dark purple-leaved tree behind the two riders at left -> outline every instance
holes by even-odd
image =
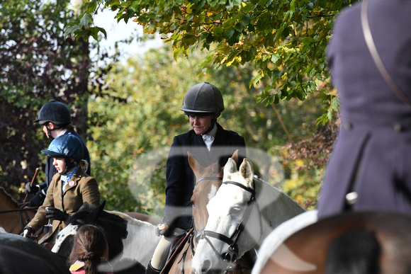
[[[0,1],[0,181],[12,193],[44,160],[40,149],[48,142],[33,120],[47,101],[67,103],[86,137],[89,89],[101,76],[91,66],[89,42],[64,38],[74,16],[68,3]]]

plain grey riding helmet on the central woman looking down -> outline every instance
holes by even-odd
[[[203,82],[191,86],[184,96],[180,110],[186,115],[215,115],[224,110],[221,92],[214,85]]]

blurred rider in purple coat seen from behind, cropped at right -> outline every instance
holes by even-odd
[[[366,25],[403,98],[368,50]],[[360,1],[334,23],[327,59],[340,96],[341,127],[318,202],[320,218],[348,210],[411,213],[410,27],[408,0]]]

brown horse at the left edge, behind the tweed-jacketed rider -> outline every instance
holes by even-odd
[[[0,188],[0,226],[6,232],[21,234],[26,224],[33,219],[36,208],[21,207],[4,188]],[[35,235],[37,239],[43,236],[43,231]]]

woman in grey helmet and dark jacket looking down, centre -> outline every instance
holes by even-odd
[[[219,161],[225,166],[228,158],[238,149],[239,165],[246,156],[244,138],[231,130],[224,130],[217,118],[224,110],[220,90],[208,82],[188,89],[180,110],[188,116],[192,130],[174,137],[167,159],[167,188],[164,219],[157,228],[162,240],[150,261],[146,273],[159,273],[161,261],[169,241],[182,230],[193,226],[190,203],[196,181],[188,165],[188,154],[202,165]]]

